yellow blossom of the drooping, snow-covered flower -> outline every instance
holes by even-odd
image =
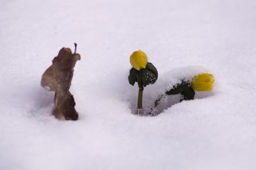
[[[194,76],[192,88],[195,91],[211,91],[213,89],[214,78],[212,74],[202,73]]]

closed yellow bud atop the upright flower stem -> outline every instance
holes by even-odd
[[[134,69],[140,71],[141,69],[145,69],[148,62],[147,54],[141,50],[133,52],[130,57],[130,62]]]

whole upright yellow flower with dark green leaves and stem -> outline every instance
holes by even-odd
[[[138,113],[142,111],[143,88],[155,83],[158,76],[156,67],[147,60],[146,53],[141,50],[133,52],[130,57],[132,69],[128,80],[131,85],[134,85],[135,82],[138,83]]]

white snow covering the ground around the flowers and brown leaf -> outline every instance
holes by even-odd
[[[0,169],[256,169],[255,9],[253,0],[1,1]],[[80,117],[62,122],[40,78],[74,42]],[[145,107],[187,66],[210,70],[214,91],[133,115],[138,87],[127,76],[138,49],[159,71]]]

